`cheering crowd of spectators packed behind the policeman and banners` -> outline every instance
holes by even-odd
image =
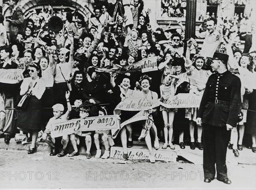
[[[127,2],[121,4],[115,14],[116,4],[108,0],[95,1],[93,9],[85,6],[91,15],[85,21],[76,10],[66,8],[58,12],[51,6],[42,9],[40,14],[31,12],[25,18],[17,6],[18,0],[9,0],[12,17],[0,14],[0,69],[23,69],[24,79],[15,84],[0,81],[0,137],[9,143],[12,135],[22,131],[31,141],[28,153],[32,154],[36,152],[38,132],[42,130],[42,139],[51,147],[52,156],[67,155],[69,142],[74,149],[69,156],[76,156],[80,141],[85,141],[86,157],[91,158],[94,142],[95,157],[103,159],[109,158],[110,148],[121,139],[123,158],[127,160],[127,147],[133,146],[134,134],[141,130],[139,140],[145,139],[149,159],[154,163],[152,143],[155,150],[168,147],[174,150],[174,142],[185,149],[184,132],[189,132],[190,149],[203,150],[203,129],[196,122],[198,108],[169,108],[164,104],[178,94],[202,97],[206,86],[213,85],[207,83],[215,72],[209,58],[220,52],[228,55],[228,70],[241,80],[240,121],[231,132],[229,148],[239,156],[244,134],[248,133],[249,146],[255,153],[256,51],[255,23],[251,18],[243,18],[239,29],[237,22],[230,23],[227,18],[207,17],[204,25],[207,30],[196,34],[196,39],[204,41],[199,48],[196,39],[185,40],[181,23],[177,30],[153,30],[148,16],[151,10],[144,9],[147,2]],[[169,7],[167,1],[162,3]],[[59,31],[48,25],[53,16],[61,17],[63,25],[61,22]],[[9,23],[8,29],[4,21]],[[9,31],[8,37],[6,31]],[[244,49],[240,49],[241,40],[245,41]],[[154,57],[157,57],[157,71],[118,72],[125,66]],[[220,89],[229,90],[229,86],[224,83]],[[21,104],[23,108],[13,109],[26,98],[24,96],[29,98]],[[120,102],[133,97],[143,97],[151,105],[160,99],[163,104],[148,109],[146,122],[122,127],[115,139],[111,130],[77,131],[61,139],[51,137],[51,124],[113,115]],[[122,110],[120,123],[137,113]],[[163,141],[161,147],[159,138]],[[59,140],[63,146],[61,152],[57,148]],[[100,144],[105,147],[103,155]]]

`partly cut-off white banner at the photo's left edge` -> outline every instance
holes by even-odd
[[[1,83],[16,84],[23,79],[23,69],[0,69]]]

